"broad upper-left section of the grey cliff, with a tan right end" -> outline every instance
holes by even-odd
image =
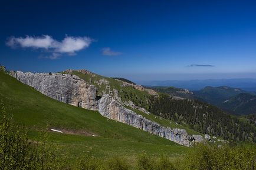
[[[94,111],[98,109],[97,88],[87,84],[76,75],[34,74],[21,71],[11,71],[9,75],[50,98],[85,109]]]

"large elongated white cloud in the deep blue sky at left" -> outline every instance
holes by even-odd
[[[7,39],[6,45],[11,48],[33,48],[44,49],[45,52],[51,52],[50,56],[45,58],[57,59],[61,55],[76,55],[77,51],[88,48],[93,39],[81,36],[65,36],[62,41],[53,39],[50,35],[42,36],[25,36],[14,37],[11,36]]]

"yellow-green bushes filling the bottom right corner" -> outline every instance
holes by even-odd
[[[199,144],[179,161],[178,169],[255,169],[255,152],[245,146]]]

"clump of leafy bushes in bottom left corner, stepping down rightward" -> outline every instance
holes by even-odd
[[[27,132],[14,123],[2,104],[1,111],[0,169],[67,169],[45,141],[28,142]]]

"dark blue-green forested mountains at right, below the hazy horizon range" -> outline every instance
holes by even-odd
[[[229,86],[206,86],[199,91],[189,91],[174,87],[153,86],[150,87],[157,92],[171,95],[173,99],[197,99],[234,115],[256,114],[256,95],[254,92],[247,92],[240,88]]]

